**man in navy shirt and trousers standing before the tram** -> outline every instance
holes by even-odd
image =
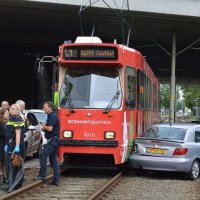
[[[42,130],[45,132],[47,144],[43,146],[40,152],[40,171],[39,175],[34,177],[34,180],[43,180],[46,178],[47,157],[54,171],[53,181],[51,185],[59,186],[60,173],[57,160],[57,149],[60,145],[60,123],[57,115],[53,112],[53,102],[47,101],[44,103],[43,110],[47,114],[47,122],[42,123]]]

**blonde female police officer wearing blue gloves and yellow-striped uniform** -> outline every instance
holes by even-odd
[[[11,169],[11,155],[12,153],[18,153],[24,158],[24,137],[22,137],[23,128],[25,126],[24,120],[20,116],[20,106],[18,104],[13,104],[10,110],[10,117],[6,124],[6,146],[4,147],[4,151],[6,152],[6,171],[7,174],[10,175]],[[13,180],[16,177],[18,170],[13,171]],[[9,178],[9,181],[11,179]],[[23,184],[23,176],[21,180],[18,180],[18,184],[15,186],[15,189],[22,187]],[[9,182],[9,186],[12,183]],[[9,189],[9,188],[8,188]]]

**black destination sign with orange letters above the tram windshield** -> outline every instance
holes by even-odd
[[[117,60],[117,48],[110,46],[67,46],[64,60]]]

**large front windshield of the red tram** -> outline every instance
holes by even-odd
[[[60,89],[60,107],[105,109],[117,92],[111,109],[120,108],[122,101],[119,73],[115,69],[69,69]]]

